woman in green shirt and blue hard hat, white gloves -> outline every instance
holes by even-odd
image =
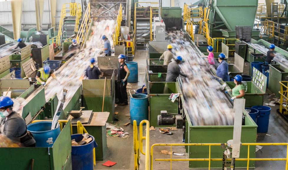
[[[232,91],[232,101],[236,98],[243,98],[243,96],[245,96],[244,86],[242,85],[242,76],[236,75],[234,77],[234,83],[236,84],[236,86],[232,90],[230,89],[225,91],[225,93]]]

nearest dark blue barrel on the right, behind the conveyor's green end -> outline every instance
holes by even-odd
[[[259,118],[257,119],[257,132],[267,133],[271,108],[268,106],[252,106],[252,108],[259,111]]]

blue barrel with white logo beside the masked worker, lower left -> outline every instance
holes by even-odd
[[[52,147],[60,134],[60,126],[51,130],[52,122],[43,121],[31,123],[27,126],[27,131],[30,131],[36,141],[36,147]]]

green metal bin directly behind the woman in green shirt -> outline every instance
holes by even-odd
[[[255,105],[263,105],[265,92],[261,90],[254,82],[246,82],[247,91],[245,92],[245,107],[251,108]],[[236,84],[234,82],[226,82],[229,88],[233,89]]]

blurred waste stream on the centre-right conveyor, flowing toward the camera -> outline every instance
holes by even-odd
[[[176,56],[182,56],[180,65],[184,74],[180,76],[182,93],[192,124],[194,126],[233,125],[234,113],[225,94],[219,90],[220,83],[211,72],[211,65],[203,60],[184,32],[169,31],[168,39],[174,47]]]

